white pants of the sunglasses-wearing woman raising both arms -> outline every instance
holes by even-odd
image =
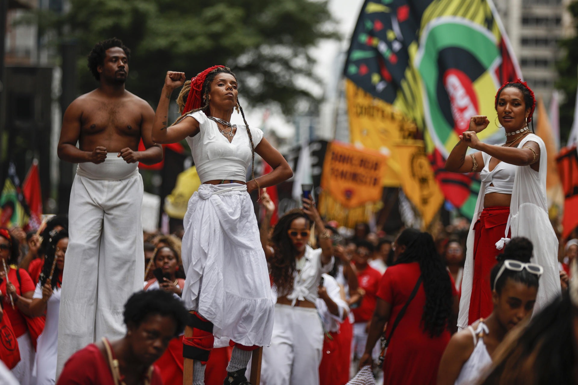
[[[263,347],[264,385],[318,385],[323,326],[317,309],[275,305],[271,346]]]

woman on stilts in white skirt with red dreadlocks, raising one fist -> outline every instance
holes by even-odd
[[[192,384],[203,385],[213,347],[234,345],[224,384],[247,385],[244,372],[251,350],[269,345],[274,319],[268,268],[249,193],[287,180],[292,171],[262,131],[247,124],[237,98],[238,82],[229,68],[213,66],[185,80],[183,72],[166,73],[152,133],[155,143],[186,139],[202,182],[183,220],[181,257],[187,279],[182,298],[194,311],[193,336],[184,338],[183,356],[194,360]],[[181,117],[169,126],[169,100],[181,85],[177,98]],[[244,126],[231,124],[235,109]],[[256,179],[255,152],[273,168]],[[252,179],[246,181],[249,166]]]

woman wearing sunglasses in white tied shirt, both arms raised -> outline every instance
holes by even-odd
[[[302,209],[281,216],[268,242],[265,234],[275,205],[268,197],[263,203],[267,215],[261,223],[261,243],[277,303],[271,346],[263,349],[261,378],[267,385],[318,385],[324,333],[315,302],[321,274],[334,264],[331,235],[314,203],[303,199]],[[318,249],[307,245],[313,223]]]

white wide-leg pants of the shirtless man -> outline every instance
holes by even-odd
[[[124,304],[144,279],[138,163],[80,163],[72,184],[58,322],[57,377],[77,350],[124,337]]]

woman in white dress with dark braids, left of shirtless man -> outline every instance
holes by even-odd
[[[37,385],[51,385],[56,380],[58,311],[66,249],[68,249],[68,231],[60,230],[50,237],[45,263],[30,304],[30,312],[34,316],[40,317],[46,313],[45,327],[36,345]],[[56,264],[52,271],[54,260]]]

